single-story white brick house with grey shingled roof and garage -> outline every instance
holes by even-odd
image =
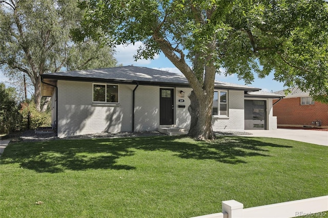
[[[41,75],[42,95],[52,97],[52,123],[59,138],[100,132],[188,131],[188,95],[182,74],[144,67]],[[275,129],[272,99],[258,88],[215,82],[213,129]]]

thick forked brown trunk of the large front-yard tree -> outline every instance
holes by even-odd
[[[204,64],[201,68],[200,66],[197,67],[197,72],[195,74],[186,63],[183,51],[173,48],[169,41],[156,35],[156,32],[153,38],[159,43],[161,51],[169,58],[174,66],[186,76],[193,89],[189,96],[191,105],[188,110],[191,114],[191,127],[188,135],[198,140],[214,139],[212,107],[216,69],[213,64],[211,64],[211,51],[214,51],[215,40],[209,44],[210,54],[206,56],[206,62],[203,62]],[[178,57],[175,52],[178,53],[180,57]],[[200,69],[202,71],[199,71]]]

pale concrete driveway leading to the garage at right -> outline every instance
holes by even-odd
[[[306,129],[276,129],[276,130],[245,130],[252,133],[250,137],[270,137],[280,139],[290,139],[300,142],[328,146],[328,132]]]

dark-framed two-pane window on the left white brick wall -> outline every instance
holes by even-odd
[[[118,85],[93,84],[93,101],[118,103]]]

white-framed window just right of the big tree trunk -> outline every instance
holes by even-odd
[[[228,91],[214,91],[212,115],[228,117]]]

